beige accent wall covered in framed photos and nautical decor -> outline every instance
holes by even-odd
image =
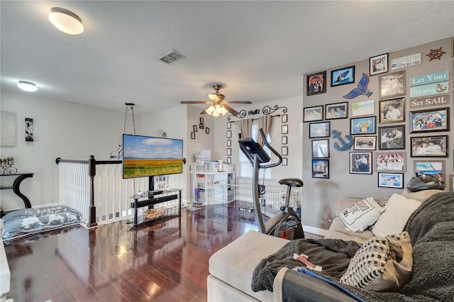
[[[423,172],[453,191],[453,65],[448,38],[305,74],[305,186],[380,198]]]

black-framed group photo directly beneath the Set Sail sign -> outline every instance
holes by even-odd
[[[449,131],[449,108],[411,111],[410,133]]]

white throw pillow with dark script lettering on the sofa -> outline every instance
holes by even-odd
[[[384,208],[379,206],[374,198],[369,197],[345,208],[339,216],[348,229],[362,232],[369,225],[373,225],[383,211]]]

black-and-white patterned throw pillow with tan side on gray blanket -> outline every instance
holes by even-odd
[[[371,237],[350,260],[339,282],[367,291],[399,291],[411,279],[412,252],[408,232]]]

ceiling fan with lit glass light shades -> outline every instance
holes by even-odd
[[[205,114],[208,113],[210,116],[214,116],[217,118],[221,114],[223,116],[226,115],[226,113],[230,112],[234,116],[238,116],[238,111],[233,109],[231,106],[228,106],[227,104],[253,104],[251,101],[224,101],[224,96],[219,92],[219,89],[222,88],[221,84],[214,84],[213,85],[214,90],[216,91],[214,94],[206,94],[206,96],[211,99],[211,101],[180,101],[180,104],[211,104],[208,108],[206,108],[204,111],[201,111],[200,114]]]

